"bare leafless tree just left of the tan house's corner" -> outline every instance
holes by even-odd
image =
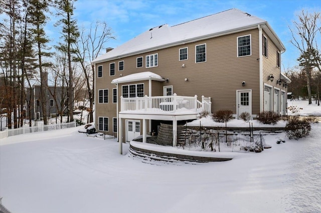
[[[104,44],[110,39],[115,39],[112,36],[111,28],[106,22],[96,21],[93,26],[90,25],[89,31],[85,28],[81,30],[80,39],[75,43],[77,61],[80,62],[82,71],[86,79],[86,87],[89,99],[89,122],[93,122],[93,102],[94,102],[94,84],[95,84],[95,66],[90,64],[90,61],[95,59]],[[88,120],[87,120],[88,122]]]

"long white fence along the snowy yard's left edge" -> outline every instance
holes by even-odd
[[[50,130],[56,130],[56,129],[62,129],[62,128],[70,128],[75,127],[76,121],[69,122],[69,123],[58,123],[58,124],[50,124],[50,125],[41,125],[41,126],[31,126],[31,127],[20,127],[20,128],[13,128],[9,129],[7,128],[4,131],[0,131],[0,139],[14,136],[18,134],[26,134],[31,132],[41,132],[41,131],[50,131]]]

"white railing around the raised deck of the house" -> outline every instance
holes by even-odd
[[[202,102],[197,100],[197,95],[179,96],[174,93],[172,96],[147,96],[144,97],[120,97],[120,111],[121,112],[148,112],[162,114],[192,112],[199,113],[202,110],[211,111],[210,102],[205,100]],[[206,105],[206,103],[207,105]]]

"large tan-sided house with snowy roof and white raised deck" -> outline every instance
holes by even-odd
[[[106,51],[92,61],[95,122],[122,142],[141,133],[145,142],[166,121],[176,145],[178,122],[204,110],[286,114],[285,47],[266,20],[239,9],[156,26]]]

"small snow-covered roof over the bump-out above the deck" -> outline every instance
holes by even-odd
[[[155,74],[150,71],[144,71],[144,72],[138,72],[134,74],[129,74],[123,77],[118,77],[116,79],[113,79],[111,83],[127,83],[127,82],[133,82],[133,81],[140,81],[140,80],[157,80],[157,81],[165,81],[165,79],[158,74]]]

